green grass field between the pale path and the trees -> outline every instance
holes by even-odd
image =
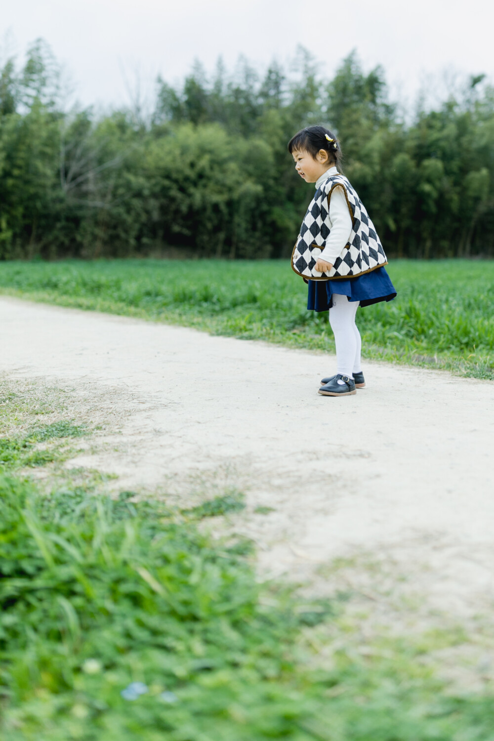
[[[358,310],[369,359],[494,378],[494,261],[395,260],[398,297]],[[38,301],[333,350],[327,314],[307,311],[288,262],[2,262],[0,290]]]

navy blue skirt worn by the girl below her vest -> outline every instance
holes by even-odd
[[[333,293],[348,296],[349,301],[359,301],[361,306],[392,301],[396,296],[386,270],[377,268],[363,276],[346,280],[310,280],[307,309],[327,311],[333,306]]]

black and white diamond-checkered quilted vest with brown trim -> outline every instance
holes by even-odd
[[[343,186],[352,216],[350,239],[329,272],[314,270],[330,235],[330,199],[337,185]],[[343,175],[331,175],[318,189],[302,222],[292,253],[292,268],[297,275],[310,280],[337,280],[370,273],[387,265],[386,255],[364,204]]]

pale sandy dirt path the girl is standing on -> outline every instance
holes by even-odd
[[[339,563],[345,579],[373,571],[368,589],[404,582],[429,608],[485,612],[494,384],[367,363],[356,396],[318,396],[334,370],[321,353],[0,297],[0,371],[110,405],[115,429],[79,465],[174,496],[241,488],[235,527],[266,574],[329,581]]]

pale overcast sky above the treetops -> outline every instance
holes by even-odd
[[[492,0],[0,0],[1,56],[22,59],[39,36],[64,63],[83,104],[129,102],[136,70],[175,82],[200,59],[228,69],[244,54],[260,69],[298,44],[330,76],[356,48],[382,64],[392,91],[412,102],[445,70],[494,78]],[[2,40],[3,39],[3,40]],[[125,79],[127,78],[127,84]]]

